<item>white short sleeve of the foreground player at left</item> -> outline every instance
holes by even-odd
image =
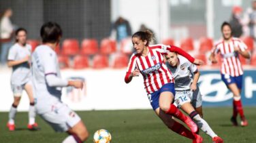
[[[57,55],[54,52],[46,51],[42,53],[43,67],[44,67],[44,75],[57,75],[57,65],[56,59]]]

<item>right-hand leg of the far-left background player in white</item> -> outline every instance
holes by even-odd
[[[29,123],[27,125],[28,129],[31,130],[37,130],[38,125],[35,123],[35,116],[36,116],[36,111],[35,111],[35,102],[33,98],[33,89],[30,83],[25,84],[25,91],[27,92],[27,95],[29,96]]]

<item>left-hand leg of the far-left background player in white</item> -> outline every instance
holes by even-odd
[[[14,94],[14,102],[12,103],[12,106],[10,108],[9,120],[7,123],[7,127],[9,128],[10,131],[15,130],[14,119],[15,119],[16,113],[17,113],[17,106],[18,106],[18,104],[20,104],[20,98],[21,98],[21,94],[22,94],[22,86],[12,85],[12,92]]]

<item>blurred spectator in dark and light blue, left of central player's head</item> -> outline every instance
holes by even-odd
[[[127,20],[119,17],[112,25],[111,34],[120,43],[123,39],[131,37],[131,26]]]

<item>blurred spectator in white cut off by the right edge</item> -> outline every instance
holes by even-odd
[[[256,0],[252,1],[252,7],[246,9],[246,13],[244,14],[244,24],[246,24],[247,35],[256,39]]]

